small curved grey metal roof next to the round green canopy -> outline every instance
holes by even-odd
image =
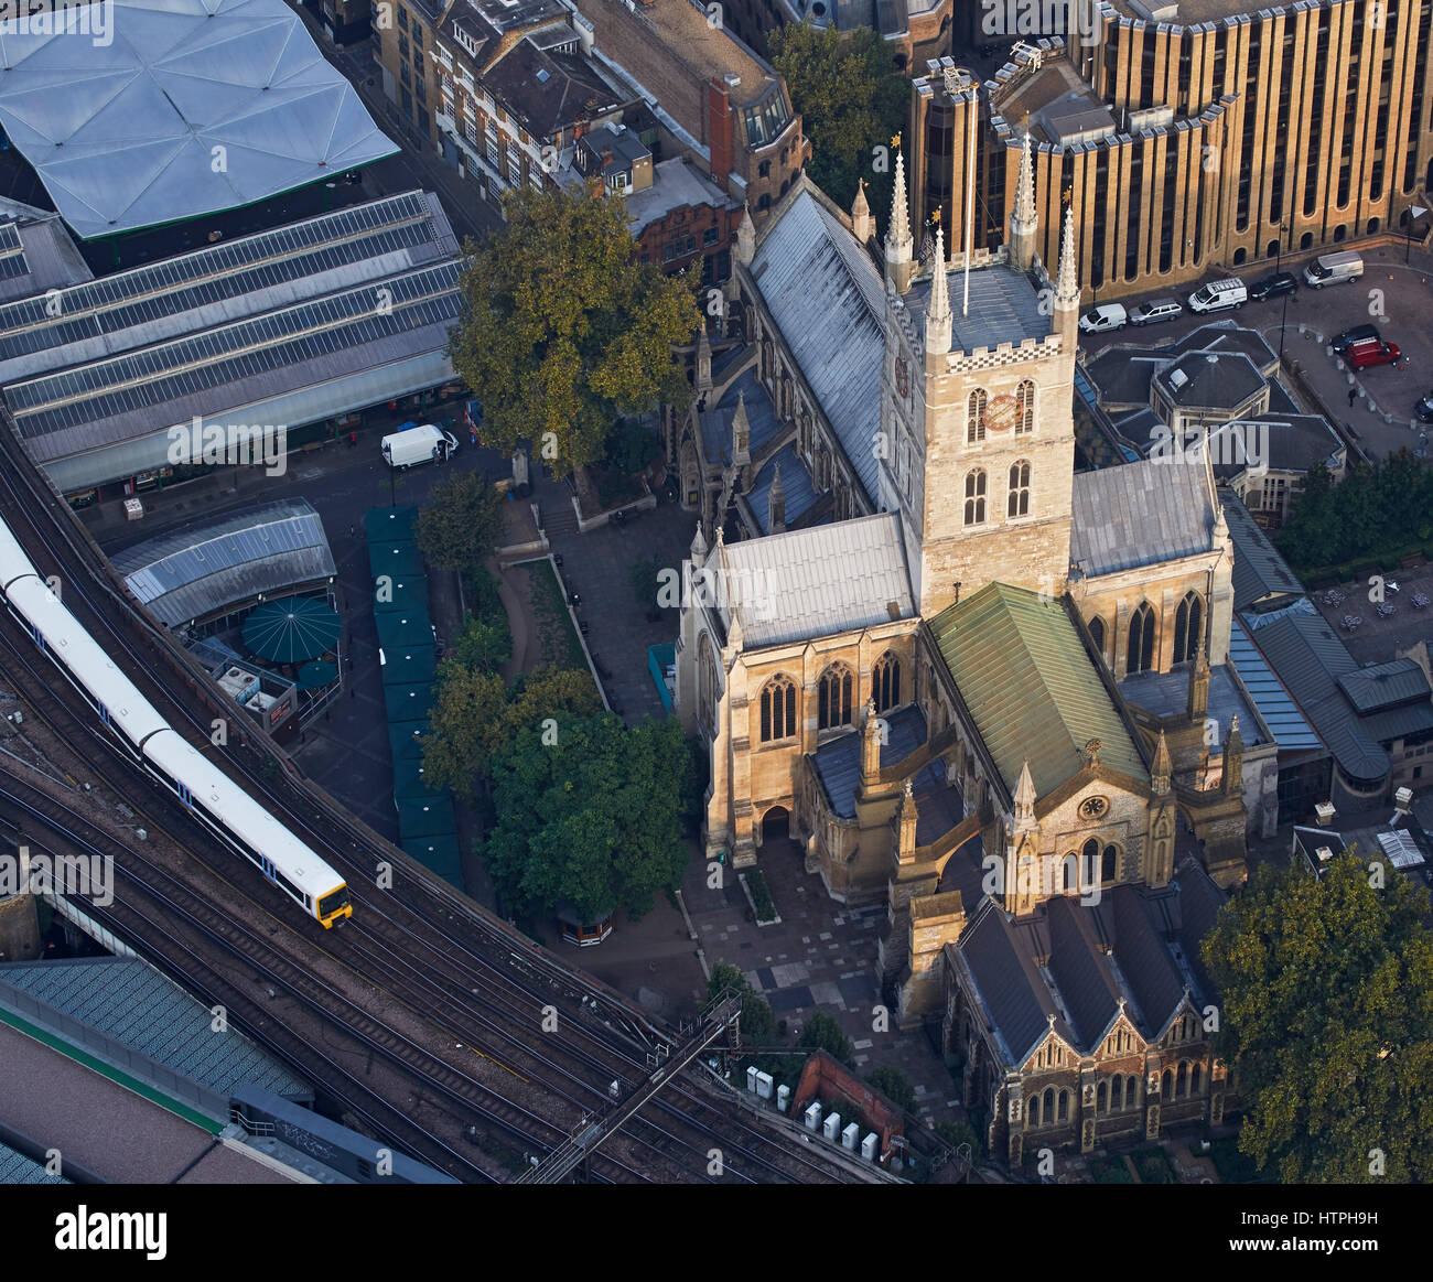
[[[302,498],[186,526],[115,553],[112,562],[166,627],[338,573],[324,523]]]

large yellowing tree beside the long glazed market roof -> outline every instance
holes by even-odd
[[[483,444],[533,440],[559,473],[602,458],[609,427],[691,395],[672,345],[698,325],[695,278],[636,261],[626,206],[529,188],[503,198],[506,226],[469,244],[453,367],[483,403]]]

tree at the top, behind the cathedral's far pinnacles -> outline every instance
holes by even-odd
[[[843,206],[856,199],[858,178],[874,180],[871,209],[888,209],[891,175],[873,162],[886,155],[894,168],[890,140],[906,127],[910,82],[886,42],[870,27],[838,32],[810,21],[768,32],[767,42],[811,139],[811,180]]]

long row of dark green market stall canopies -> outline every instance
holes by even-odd
[[[463,859],[453,796],[424,778],[421,738],[430,729],[437,636],[428,619],[428,580],[414,541],[417,507],[374,507],[364,519],[378,660],[393,749],[393,804],[403,849],[461,890]]]

